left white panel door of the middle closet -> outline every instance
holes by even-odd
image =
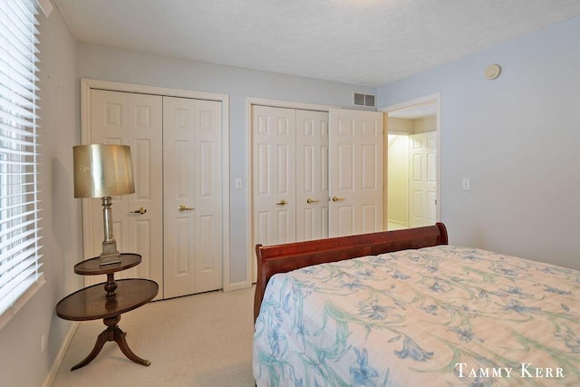
[[[296,240],[295,160],[295,110],[253,106],[253,246]]]

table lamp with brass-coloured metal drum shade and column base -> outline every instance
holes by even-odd
[[[135,192],[131,148],[127,145],[89,144],[73,147],[74,197],[102,198],[101,266],[121,263],[112,235],[112,197]]]

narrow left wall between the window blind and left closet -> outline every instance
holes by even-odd
[[[73,145],[80,140],[75,48],[58,10],[41,24],[39,102],[43,272],[46,283],[0,330],[0,385],[40,386],[71,323],[54,314],[64,295],[81,287],[73,266],[82,253],[80,203],[73,198]],[[41,337],[46,345],[41,352]]]

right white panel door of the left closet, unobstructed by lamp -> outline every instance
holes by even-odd
[[[221,103],[163,97],[165,297],[222,285]]]

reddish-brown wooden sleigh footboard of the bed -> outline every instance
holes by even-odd
[[[376,256],[394,251],[448,244],[447,228],[434,226],[382,231],[349,237],[332,237],[283,245],[256,245],[257,282],[254,296],[254,320],[271,276],[304,266],[312,266],[358,256]]]

